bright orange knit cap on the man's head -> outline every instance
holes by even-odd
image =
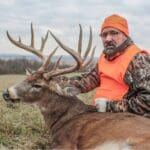
[[[113,14],[113,15],[105,18],[105,20],[102,24],[102,27],[101,27],[101,32],[106,27],[116,28],[116,29],[122,31],[126,36],[129,35],[128,22],[125,18],[123,18],[119,15]]]

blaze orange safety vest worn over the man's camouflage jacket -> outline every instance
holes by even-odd
[[[101,54],[98,61],[100,87],[97,88],[94,99],[103,97],[112,101],[122,100],[129,89],[124,82],[124,75],[133,57],[140,52],[145,51],[141,51],[136,45],[131,45],[113,61],[107,61],[104,54]]]

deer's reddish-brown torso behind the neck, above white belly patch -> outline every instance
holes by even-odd
[[[84,113],[52,134],[51,148],[96,149],[104,143],[120,142],[135,150],[147,150],[149,123],[143,125],[145,120],[141,119],[131,114]],[[137,123],[141,125],[136,126]]]

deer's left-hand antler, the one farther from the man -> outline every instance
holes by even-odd
[[[9,32],[7,31],[7,37],[8,39],[14,44],[16,45],[17,47],[20,47],[24,50],[27,50],[33,54],[35,54],[36,56],[38,56],[41,60],[42,60],[42,66],[38,69],[40,71],[44,71],[47,69],[49,63],[50,63],[50,59],[51,57],[54,55],[54,53],[56,52],[57,50],[57,47],[52,51],[52,53],[50,53],[50,55],[48,57],[44,56],[43,55],[43,50],[44,50],[44,47],[45,47],[45,44],[46,44],[46,41],[48,39],[48,31],[45,35],[45,37],[42,37],[41,38],[41,47],[40,49],[36,49],[35,46],[34,46],[34,30],[33,30],[33,25],[31,23],[31,44],[30,45],[26,45],[24,43],[21,42],[21,38],[19,37],[19,41],[17,40],[14,40]]]

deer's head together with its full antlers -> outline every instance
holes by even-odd
[[[12,101],[12,102],[17,102],[20,100],[24,102],[37,102],[37,101],[42,101],[42,99],[46,99],[46,97],[50,97],[50,95],[54,95],[54,93],[60,94],[61,90],[60,90],[59,83],[63,78],[57,78],[57,77],[60,75],[64,75],[66,73],[72,73],[78,71],[79,69],[88,66],[91,63],[94,56],[95,47],[93,48],[90,58],[87,59],[92,45],[92,29],[90,27],[90,38],[89,38],[88,47],[85,51],[84,56],[81,57],[82,27],[81,25],[79,25],[79,27],[80,27],[80,34],[79,34],[79,41],[78,41],[78,52],[65,46],[49,30],[47,31],[46,35],[41,39],[42,42],[41,42],[40,49],[36,49],[34,44],[34,30],[32,24],[31,24],[31,44],[29,46],[22,43],[21,38],[19,38],[19,41],[14,40],[10,36],[9,32],[7,31],[7,37],[11,41],[11,43],[16,45],[17,47],[20,47],[38,56],[42,61],[42,65],[37,71],[28,70],[27,78],[24,81],[16,85],[13,85],[3,93],[4,99],[6,101]],[[44,56],[43,50],[46,41],[48,39],[49,33],[56,40],[56,42],[75,59],[76,64],[68,68],[60,69],[59,68],[60,58],[61,58],[60,57],[58,61],[55,63],[55,65],[53,66],[52,70],[48,70],[48,66],[51,63],[51,58],[58,48],[56,47],[49,54],[48,57]]]

